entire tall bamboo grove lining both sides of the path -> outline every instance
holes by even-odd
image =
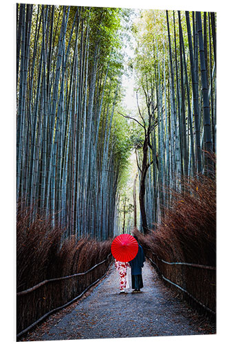
[[[51,217],[66,237],[118,233],[131,149],[144,233],[182,178],[215,175],[216,14],[139,13],[129,60],[137,110],[128,114],[120,102],[131,10],[17,4],[18,208],[30,208],[31,221]],[[136,200],[124,207],[136,226]]]

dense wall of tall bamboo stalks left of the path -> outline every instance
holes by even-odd
[[[129,154],[115,114],[127,14],[17,4],[18,208],[52,217],[67,237],[113,235]]]

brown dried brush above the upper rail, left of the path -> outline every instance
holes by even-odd
[[[90,237],[65,239],[65,230],[52,226],[52,220],[36,215],[32,208],[17,213],[17,291],[56,277],[85,272],[107,258],[111,240]]]

